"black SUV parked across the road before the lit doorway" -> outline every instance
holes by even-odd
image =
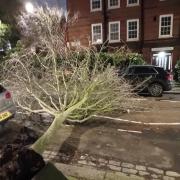
[[[154,97],[162,96],[163,91],[172,89],[172,75],[161,67],[153,65],[132,65],[126,69],[123,76],[130,81],[135,91],[146,91]]]

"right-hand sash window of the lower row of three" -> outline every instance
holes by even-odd
[[[139,19],[127,20],[127,41],[139,40]]]

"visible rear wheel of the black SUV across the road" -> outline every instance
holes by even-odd
[[[163,87],[159,83],[153,83],[149,86],[148,91],[151,94],[151,96],[160,97],[163,93]]]

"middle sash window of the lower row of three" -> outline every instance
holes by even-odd
[[[109,42],[120,41],[120,21],[109,23]]]

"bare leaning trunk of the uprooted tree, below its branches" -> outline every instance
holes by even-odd
[[[31,148],[37,153],[42,154],[52,138],[55,137],[57,130],[59,130],[66,118],[67,115],[64,113],[57,115],[48,130],[31,146]]]

